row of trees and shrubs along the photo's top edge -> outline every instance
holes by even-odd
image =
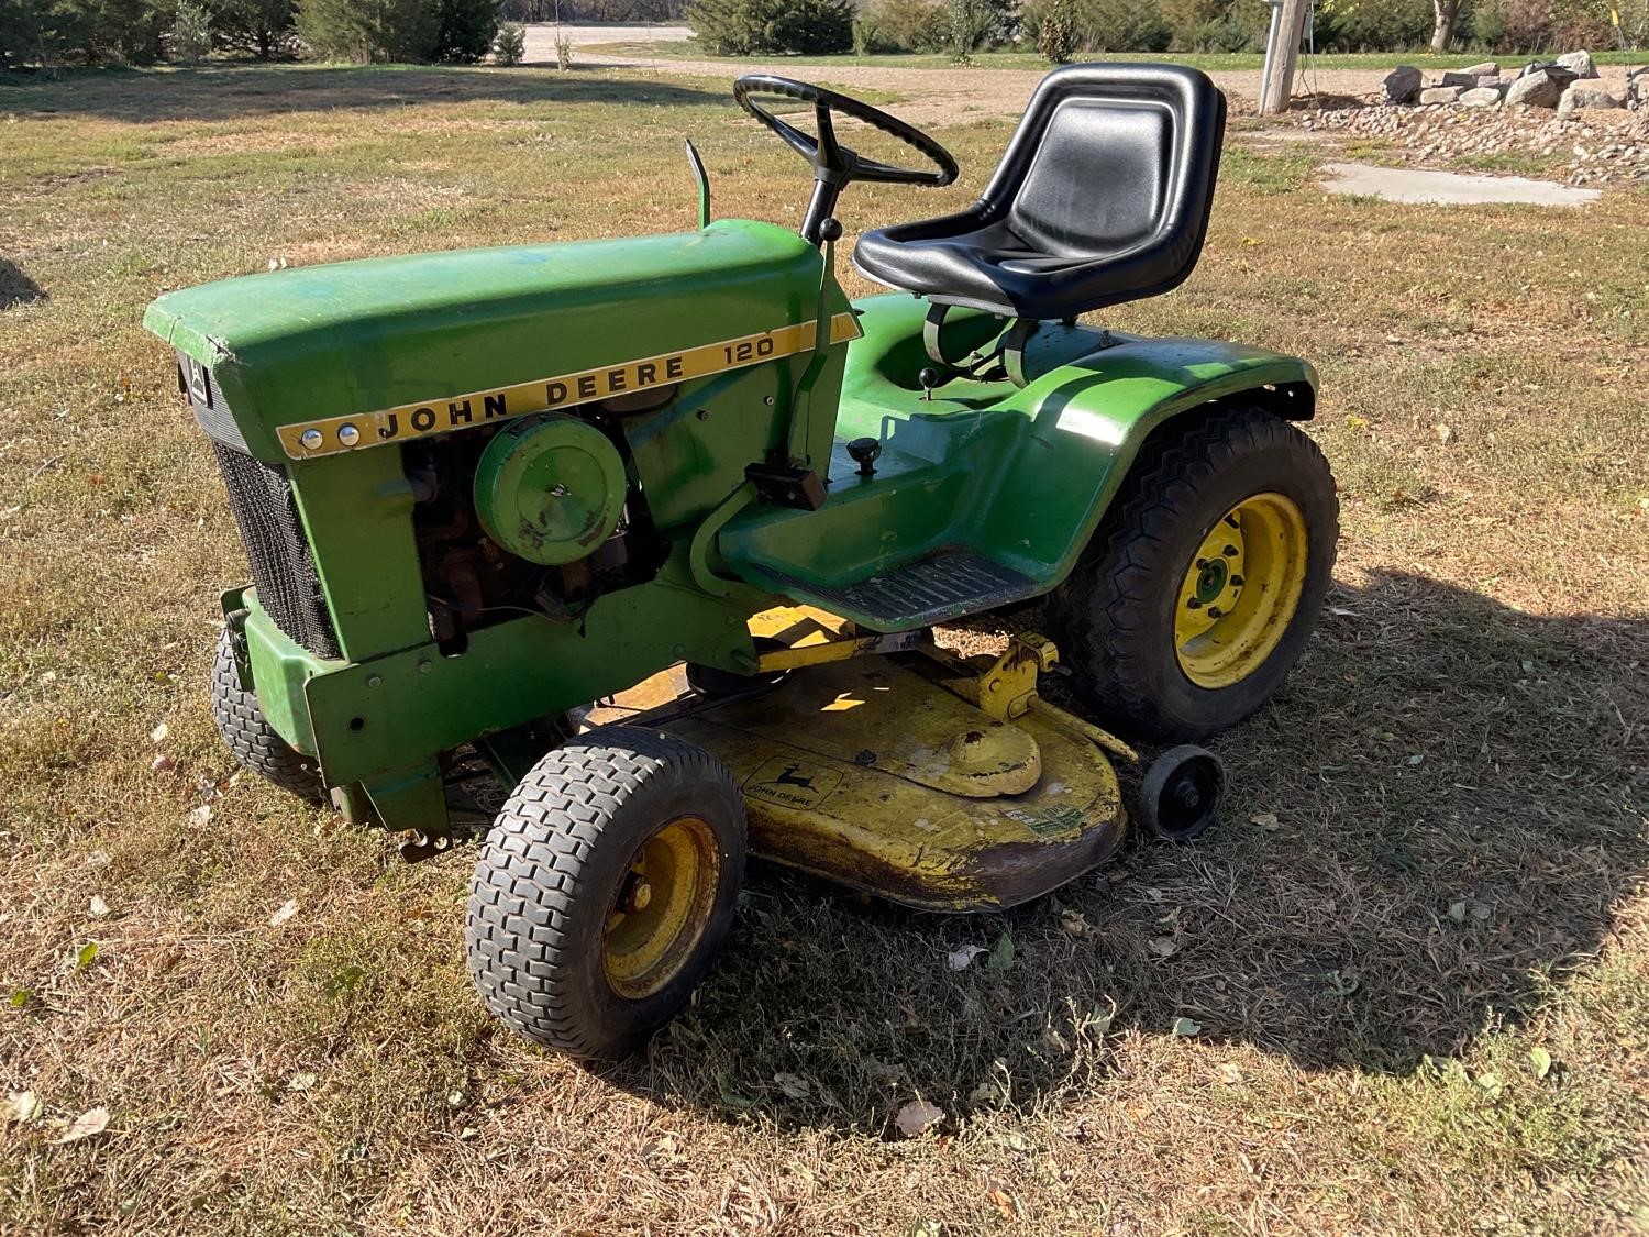
[[[1614,0],[1626,38],[1649,0]],[[1611,46],[1611,0],[1318,0],[1321,51]],[[1265,0],[0,0],[0,68],[152,64],[211,53],[256,59],[483,58],[501,21],[691,21],[707,51],[950,53],[1041,48],[1258,51]]]

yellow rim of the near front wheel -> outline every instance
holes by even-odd
[[[637,1001],[681,973],[709,925],[719,877],[716,835],[698,816],[678,816],[641,843],[602,937],[602,968],[615,993]]]

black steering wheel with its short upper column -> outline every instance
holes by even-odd
[[[818,137],[803,134],[795,125],[780,120],[762,107],[752,97],[760,94],[813,104]],[[951,158],[951,153],[945,147],[897,115],[889,115],[881,107],[871,107],[871,104],[859,102],[846,94],[792,78],[775,78],[770,73],[747,73],[732,84],[732,97],[744,111],[778,134],[785,145],[813,165],[813,200],[808,203],[806,218],[801,221],[801,234],[813,244],[820,242],[824,221],[829,219],[841,190],[856,180],[884,185],[925,185],[928,188],[942,188],[956,180],[956,160]],[[854,120],[862,120],[890,137],[897,137],[907,147],[925,155],[933,167],[902,168],[876,158],[864,158],[836,140],[836,125],[831,120],[831,112],[851,115]]]

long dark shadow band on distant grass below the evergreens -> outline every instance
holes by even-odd
[[[25,115],[109,120],[234,120],[345,109],[394,109],[477,99],[513,104],[731,106],[727,91],[543,69],[379,66],[223,66],[79,69],[0,89]]]

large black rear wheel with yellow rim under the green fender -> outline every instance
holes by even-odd
[[[1171,430],[1146,444],[1054,592],[1049,618],[1080,694],[1102,717],[1163,742],[1192,742],[1252,716],[1299,658],[1332,577],[1339,501],[1316,444],[1270,412],[1230,409]],[[1222,561],[1230,549],[1238,556]],[[1207,579],[1210,604],[1197,600],[1199,562],[1217,576]],[[1227,562],[1252,562],[1255,581],[1227,579]],[[1270,609],[1224,640],[1186,627],[1217,622],[1205,617],[1217,605]],[[1247,651],[1232,656],[1238,647]]]

